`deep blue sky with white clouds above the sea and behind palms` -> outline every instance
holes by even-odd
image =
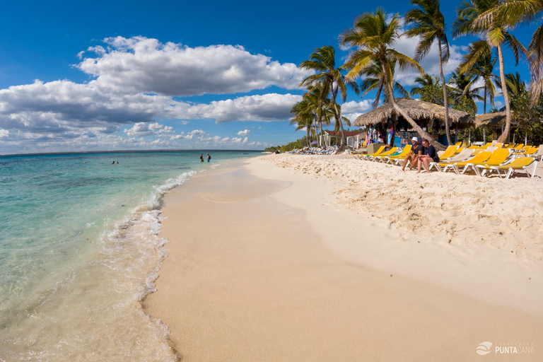
[[[305,135],[289,125],[323,45],[341,65],[338,36],[370,1],[11,1],[0,21],[0,154],[134,149],[255,149]],[[443,1],[450,24],[458,3]],[[408,1],[387,2],[399,16]],[[514,31],[524,45],[530,28]],[[445,78],[473,37],[453,40]],[[397,49],[413,55],[416,38]],[[506,53],[506,72],[519,71]],[[438,75],[437,48],[420,62]],[[496,67],[496,74],[498,69]],[[397,71],[408,90],[416,74]],[[375,94],[349,92],[354,121]],[[503,98],[496,98],[503,106]],[[479,112],[482,104],[479,103]]]

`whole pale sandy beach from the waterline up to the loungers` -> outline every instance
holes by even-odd
[[[402,220],[394,209],[409,206],[392,196],[402,183],[410,185],[408,204],[417,204],[411,209],[426,220],[416,187],[448,205],[450,180],[460,179],[424,180],[381,167],[354,158],[267,156],[200,173],[170,192],[160,233],[171,241],[169,256],[144,306],[168,326],[182,361],[542,361],[540,242],[474,242],[459,231],[473,224],[460,206],[433,216],[454,218],[455,228],[433,218],[430,226]],[[367,173],[385,173],[387,188],[371,184]],[[472,207],[493,216],[501,204],[527,223],[531,214],[510,204],[530,206],[539,194],[491,202],[470,184],[496,188],[498,181],[525,187],[462,180],[478,197]],[[373,199],[357,200],[361,194]],[[483,341],[493,343],[488,356],[475,352]],[[494,354],[502,344],[534,353]]]

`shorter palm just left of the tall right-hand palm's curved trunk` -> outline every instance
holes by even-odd
[[[494,52],[490,49],[489,43],[484,40],[477,40],[469,45],[467,54],[464,56],[464,62],[460,64],[460,69],[465,66],[469,59],[474,57],[474,54],[479,52],[481,47],[488,47],[484,49],[477,62],[472,66],[472,73],[477,76],[477,79],[482,78],[484,82],[484,103],[483,113],[486,113],[486,99],[489,98],[491,107],[494,107],[494,97],[496,96],[496,87],[494,82],[496,81],[496,75],[494,74],[494,66],[498,62],[498,58],[494,56]]]

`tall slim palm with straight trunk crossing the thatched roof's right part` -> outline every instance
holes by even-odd
[[[445,106],[445,134],[448,144],[451,144],[447,84],[445,76],[443,76],[443,63],[448,62],[450,57],[445,18],[439,10],[439,0],[411,0],[409,4],[418,6],[409,10],[405,16],[407,24],[414,23],[413,28],[407,30],[405,34],[408,37],[420,37],[419,44],[415,49],[415,60],[420,62],[430,52],[433,43],[438,41],[439,74],[443,86],[443,105]]]

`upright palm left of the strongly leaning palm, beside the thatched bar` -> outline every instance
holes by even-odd
[[[345,145],[345,132],[343,124],[341,122],[341,113],[337,106],[337,94],[341,95],[341,99],[345,102],[347,97],[347,85],[350,85],[356,93],[358,88],[354,81],[346,79],[341,74],[341,69],[336,68],[335,60],[336,49],[330,45],[325,45],[315,49],[315,52],[311,53],[309,60],[305,60],[300,64],[301,69],[308,69],[316,71],[317,74],[308,76],[305,78],[300,86],[312,87],[310,92],[313,92],[313,88],[321,87],[321,97],[327,98],[331,95],[331,104],[334,107],[337,122],[339,122],[339,128],[341,129],[341,147]]]

